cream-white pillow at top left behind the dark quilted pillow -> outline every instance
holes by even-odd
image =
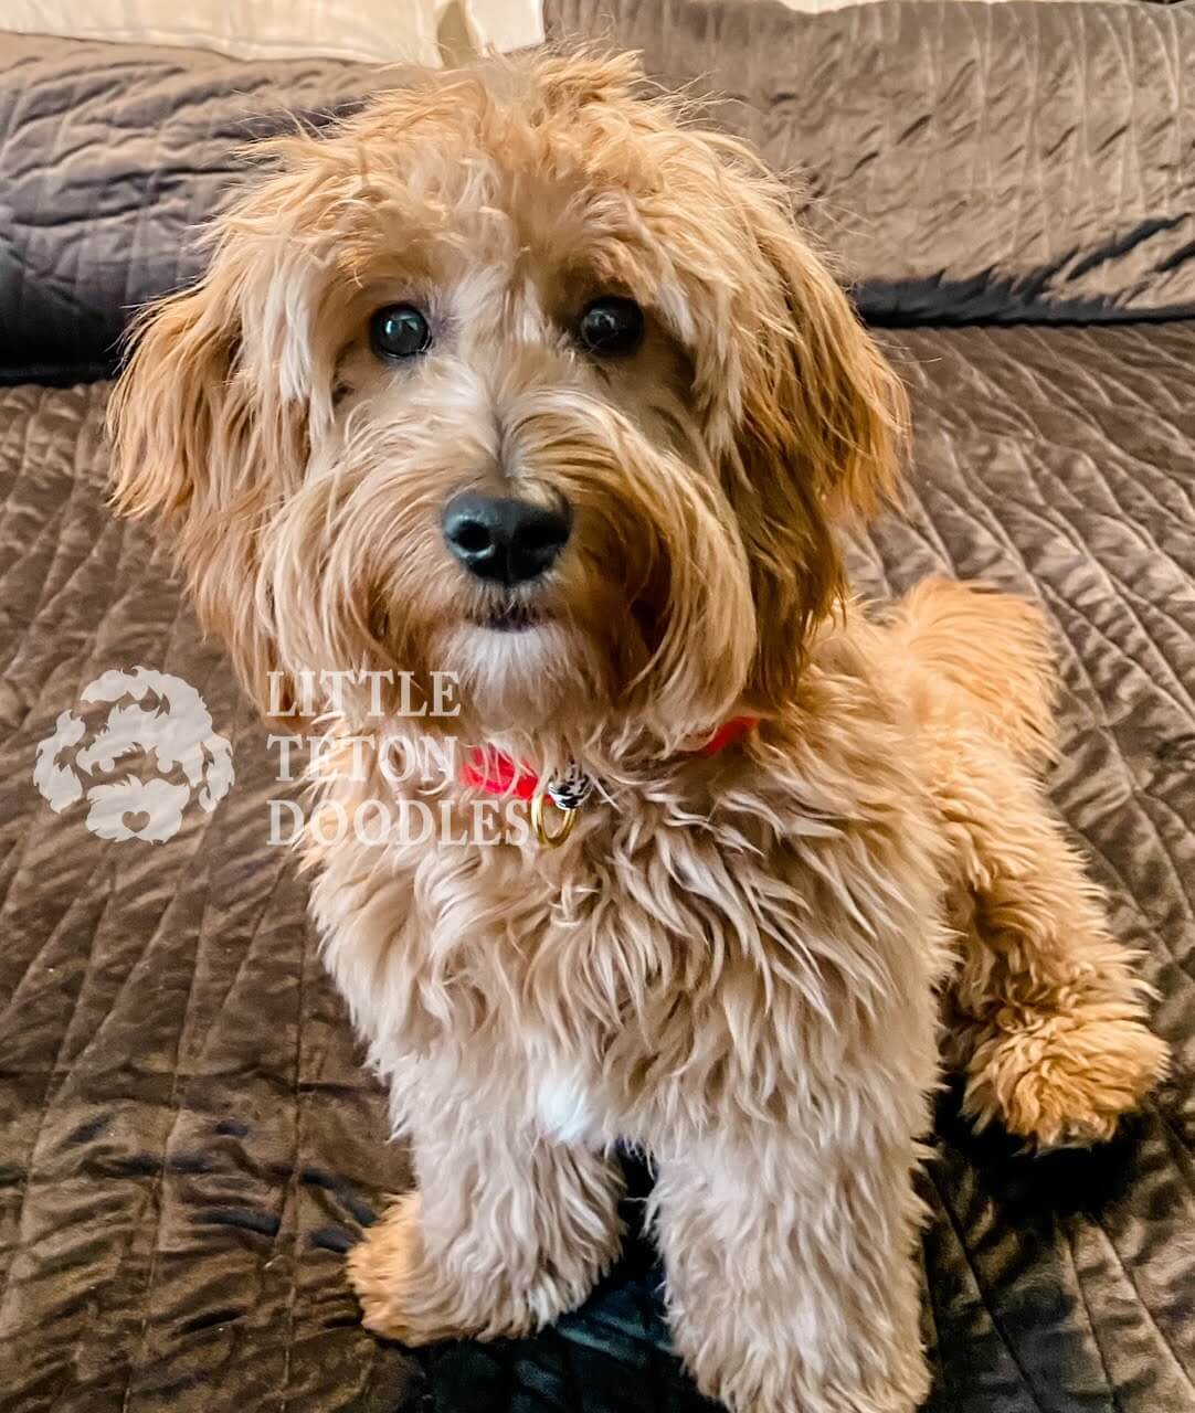
[[[543,40],[542,0],[0,0],[0,30],[174,44],[242,59],[327,55],[438,68]]]

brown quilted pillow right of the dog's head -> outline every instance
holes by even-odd
[[[1195,314],[1195,4],[549,0],[791,170],[877,321]]]

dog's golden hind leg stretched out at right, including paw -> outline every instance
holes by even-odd
[[[928,735],[959,869],[946,1058],[964,1106],[1042,1147],[1107,1139],[1167,1065],[1136,957],[1030,771],[997,740]]]

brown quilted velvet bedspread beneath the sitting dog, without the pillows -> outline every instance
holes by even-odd
[[[987,1366],[1014,1400],[940,1407],[1032,1409],[1024,1366],[1044,1352],[1058,1378],[1075,1342],[1103,1386],[1088,1307],[1147,1381],[1123,1406],[1177,1413],[1195,1371],[1195,322],[916,331],[894,353],[916,400],[914,495],[857,547],[858,582],[983,575],[1041,598],[1066,682],[1054,794],[1148,954],[1178,1054],[1138,1140],[1066,1170],[1063,1215],[1032,1197],[1056,1169],[977,1163],[946,1122],[928,1236],[943,1375]],[[4,1406],[399,1407],[413,1375],[354,1327],[341,1252],[403,1186],[403,1156],[293,859],[264,842],[263,732],[146,531],[105,510],[106,391],[0,393]],[[235,746],[228,800],[157,846],[95,838],[31,780],[58,712],[133,663],[191,681]],[[1097,1217],[1071,1210],[1104,1181]],[[1027,1201],[1030,1226],[993,1232]],[[1037,1327],[991,1308],[1017,1291]]]

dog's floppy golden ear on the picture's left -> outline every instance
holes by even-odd
[[[274,647],[256,601],[256,541],[279,478],[301,465],[294,408],[242,365],[236,260],[218,256],[192,291],[150,307],[109,408],[112,499],[173,540],[205,630],[228,646],[242,682],[269,709]],[[273,705],[286,709],[287,692]]]

